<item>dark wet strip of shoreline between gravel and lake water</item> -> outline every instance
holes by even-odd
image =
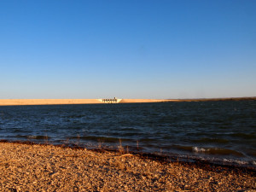
[[[119,153],[119,154],[133,154],[138,155],[143,159],[151,159],[157,160],[160,163],[180,163],[184,165],[193,165],[203,167],[224,167],[230,170],[241,170],[247,172],[253,172],[256,174],[256,165],[253,164],[239,164],[234,161],[223,161],[223,160],[209,160],[209,159],[201,159],[197,156],[189,156],[189,155],[180,155],[180,154],[167,154],[167,153],[147,153],[143,152],[140,149],[127,149],[127,146],[86,146],[81,145],[79,143],[62,143],[62,144],[52,144],[52,143],[34,143],[31,141],[8,141],[8,140],[0,140],[0,143],[15,143],[15,144],[25,144],[25,145],[39,145],[39,146],[54,146],[60,148],[71,148],[71,149],[86,149],[96,153]]]

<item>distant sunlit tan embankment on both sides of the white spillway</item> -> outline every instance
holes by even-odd
[[[211,102],[256,100],[253,97],[201,98],[201,99],[120,99],[119,103],[142,102]],[[0,106],[19,105],[68,105],[68,104],[104,104],[101,99],[0,99]]]

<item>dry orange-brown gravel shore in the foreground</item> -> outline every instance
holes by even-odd
[[[0,143],[1,191],[256,191],[255,171]]]

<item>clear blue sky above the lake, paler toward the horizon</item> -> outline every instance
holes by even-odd
[[[1,0],[0,99],[256,96],[255,0]]]

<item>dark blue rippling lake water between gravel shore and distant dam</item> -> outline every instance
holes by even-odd
[[[256,101],[0,107],[0,139],[256,165]],[[126,148],[126,147],[125,147]]]

